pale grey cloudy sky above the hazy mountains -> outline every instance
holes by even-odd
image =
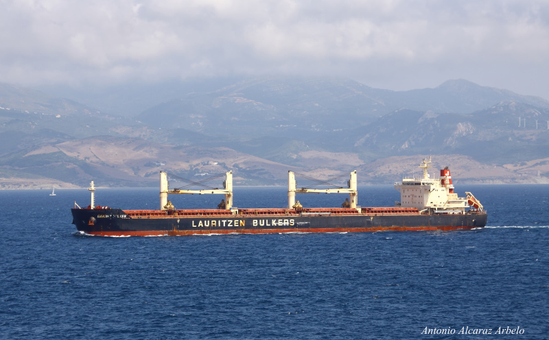
[[[0,82],[463,78],[549,99],[549,2],[0,0]]]

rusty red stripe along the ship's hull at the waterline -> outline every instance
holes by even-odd
[[[231,229],[231,230],[143,230],[119,232],[87,232],[98,236],[178,236],[201,234],[272,234],[285,232],[379,232],[379,231],[420,231],[420,230],[460,230],[477,226],[438,226],[438,227],[372,227],[372,228],[311,228],[311,229]]]

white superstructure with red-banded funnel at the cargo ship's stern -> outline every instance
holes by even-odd
[[[441,169],[441,177],[430,177],[428,169],[431,167],[431,157],[422,160],[422,178],[404,178],[395,183],[395,189],[400,191],[400,202],[397,206],[418,208],[430,213],[463,214],[469,205],[482,211],[482,205],[471,194],[467,197],[458,197],[454,193],[452,176],[448,167]]]

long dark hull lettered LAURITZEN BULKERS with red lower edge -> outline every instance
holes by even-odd
[[[152,210],[155,211],[155,210]],[[458,230],[486,226],[486,213],[353,214],[266,216],[131,217],[121,209],[71,209],[81,232],[101,236],[160,236],[192,234],[262,234],[272,232],[375,232],[380,230]],[[158,211],[158,213],[161,213]],[[165,214],[165,213],[164,213]]]

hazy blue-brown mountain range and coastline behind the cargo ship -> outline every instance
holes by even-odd
[[[156,186],[161,169],[233,170],[241,185],[358,169],[359,182],[390,184],[430,154],[433,171],[449,165],[457,183],[549,182],[549,101],[466,80],[391,91],[262,77],[46,93],[0,84],[3,188]]]

